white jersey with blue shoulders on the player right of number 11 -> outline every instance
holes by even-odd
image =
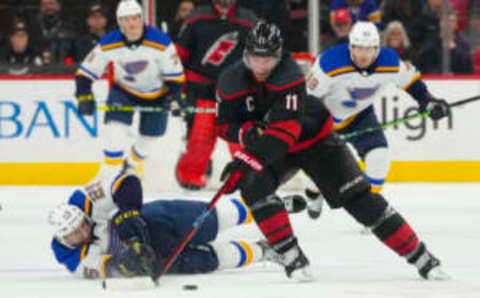
[[[335,128],[341,129],[391,88],[406,90],[420,77],[414,66],[388,48],[381,48],[376,63],[361,71],[350,59],[348,44],[342,44],[317,58],[307,76],[307,91],[323,100]]]

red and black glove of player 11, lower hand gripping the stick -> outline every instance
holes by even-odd
[[[244,176],[249,175],[252,171],[259,173],[263,171],[263,164],[252,154],[239,150],[233,154],[233,161],[229,162],[225,168],[223,168],[220,175],[220,181],[229,180],[230,184],[225,189],[226,194],[235,192],[241,187]]]

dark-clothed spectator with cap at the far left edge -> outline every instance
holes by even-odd
[[[6,67],[10,74],[21,75],[34,72],[42,65],[42,59],[34,50],[24,20],[14,22],[0,57],[0,64]]]

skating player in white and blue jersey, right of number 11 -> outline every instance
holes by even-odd
[[[357,22],[350,31],[349,43],[321,54],[307,77],[309,94],[324,102],[340,134],[378,126],[372,104],[392,88],[409,93],[419,110],[431,111],[429,116],[435,121],[450,114],[447,102],[428,92],[413,65],[401,61],[394,50],[380,47],[378,30],[370,22]],[[365,162],[371,191],[380,192],[390,166],[385,134],[377,130],[349,142]],[[315,202],[311,209],[320,208],[322,200]]]

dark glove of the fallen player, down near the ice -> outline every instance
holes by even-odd
[[[106,262],[106,277],[152,275],[156,263],[157,258],[150,245],[128,243]]]

